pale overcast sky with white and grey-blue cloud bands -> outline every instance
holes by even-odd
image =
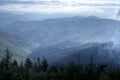
[[[120,0],[0,0],[0,10],[33,13],[69,13],[114,17]]]

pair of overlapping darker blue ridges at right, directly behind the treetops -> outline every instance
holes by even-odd
[[[61,45],[62,43],[60,43]],[[56,45],[40,49],[30,54],[31,58],[46,57],[50,64],[64,65],[71,61],[87,64],[91,55],[95,63],[119,63],[119,53],[113,43],[86,43],[79,46],[62,48]],[[78,61],[80,59],[80,61]]]

